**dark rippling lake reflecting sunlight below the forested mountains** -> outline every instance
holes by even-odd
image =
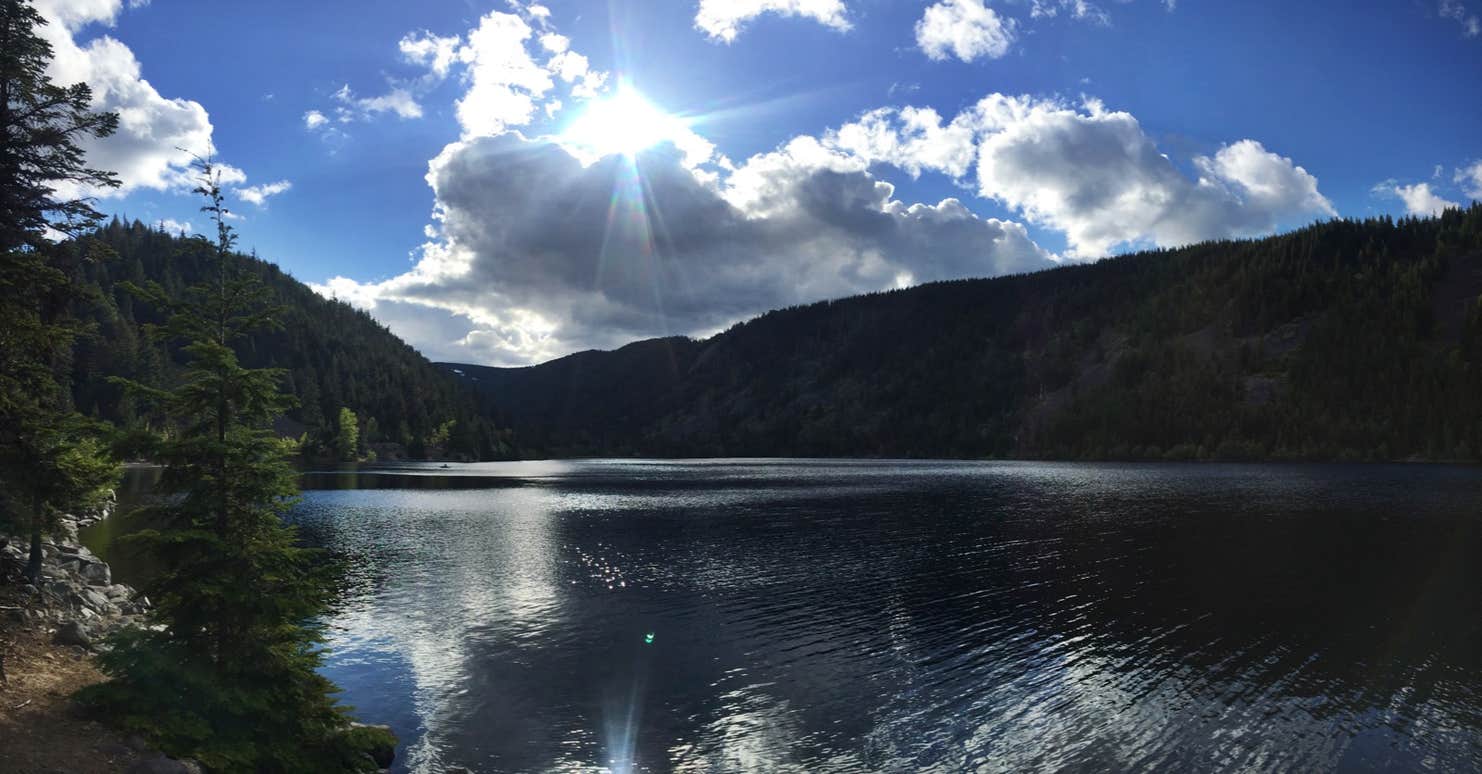
[[[1476,771],[1482,470],[305,476],[399,771]]]

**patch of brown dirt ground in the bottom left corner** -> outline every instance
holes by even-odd
[[[7,678],[0,682],[0,771],[113,774],[141,758],[114,731],[70,712],[74,691],[104,679],[86,651],[52,645],[44,624],[6,620],[0,652]]]

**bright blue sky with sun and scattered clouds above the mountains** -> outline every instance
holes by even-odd
[[[99,209],[436,360],[1482,199],[1482,0],[33,0]],[[89,191],[83,191],[89,193]]]

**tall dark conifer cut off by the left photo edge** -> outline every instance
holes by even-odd
[[[68,316],[87,245],[56,245],[96,225],[89,199],[58,191],[117,185],[86,165],[80,141],[104,138],[119,116],[92,110],[92,90],[46,77],[46,21],[22,0],[0,0],[0,520],[30,535],[28,575],[41,566],[41,532],[84,507],[117,466],[71,411],[58,374],[86,328]]]

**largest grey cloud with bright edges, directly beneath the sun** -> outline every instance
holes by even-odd
[[[1023,225],[956,199],[907,205],[858,159],[799,138],[725,185],[661,145],[584,165],[517,133],[430,165],[440,239],[373,285],[320,286],[468,320],[464,357],[529,362],[633,338],[704,334],[769,308],[1051,264]],[[615,193],[617,191],[617,193]]]

